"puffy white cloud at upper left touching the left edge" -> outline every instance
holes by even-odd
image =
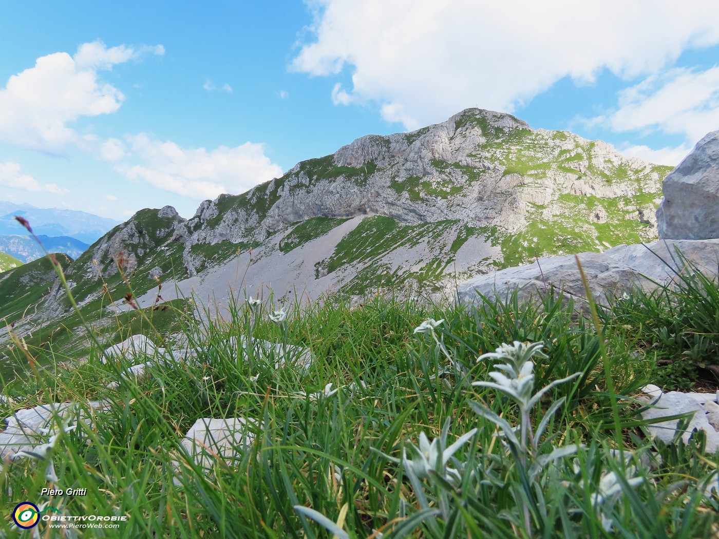
[[[159,48],[158,48],[159,47]],[[161,46],[149,52],[162,54]],[[84,43],[78,52],[55,52],[37,59],[35,66],[13,75],[0,89],[0,142],[16,147],[62,154],[83,139],[68,123],[82,116],[115,112],[124,95],[98,79],[99,70],[137,58],[147,47],[107,48],[103,42]]]

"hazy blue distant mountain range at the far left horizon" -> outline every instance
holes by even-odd
[[[29,221],[35,234],[68,236],[88,245],[93,244],[100,236],[120,223],[84,211],[35,208],[29,204],[0,201],[0,236],[27,234],[27,231],[15,221],[15,216],[18,215]]]

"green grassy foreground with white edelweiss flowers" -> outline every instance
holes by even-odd
[[[691,286],[705,285],[715,290]],[[10,513],[27,500],[128,517],[68,537],[715,537],[719,456],[703,453],[700,433],[689,445],[651,441],[632,398],[658,376],[671,382],[679,371],[658,365],[664,351],[681,354],[697,316],[719,313],[719,294],[700,296],[703,310],[637,292],[600,313],[603,336],[551,296],[472,309],[327,300],[286,320],[274,313],[276,323],[269,302],[206,322],[177,309],[175,323],[202,348],[195,362],[106,389],[132,363],[102,364],[93,348],[85,364],[58,361],[4,389],[14,402],[0,402],[2,418],[45,402],[108,407],[89,425],[58,418],[65,430],[39,451],[44,461],[3,463],[0,536],[16,535]],[[676,326],[666,343],[661,320]],[[307,346],[316,359],[306,372],[276,368],[275,357],[233,346],[239,335]],[[703,338],[697,354],[715,353],[716,335]],[[188,458],[180,440],[198,418],[234,417],[255,420],[234,459],[203,469]],[[46,525],[33,531],[63,536]]]

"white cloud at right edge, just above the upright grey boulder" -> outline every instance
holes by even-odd
[[[697,142],[719,129],[719,67],[673,69],[618,94],[618,107],[591,124],[615,132],[661,131]]]

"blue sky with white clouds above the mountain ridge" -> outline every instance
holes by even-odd
[[[677,165],[719,129],[719,3],[0,4],[0,200],[189,217],[470,106]]]

